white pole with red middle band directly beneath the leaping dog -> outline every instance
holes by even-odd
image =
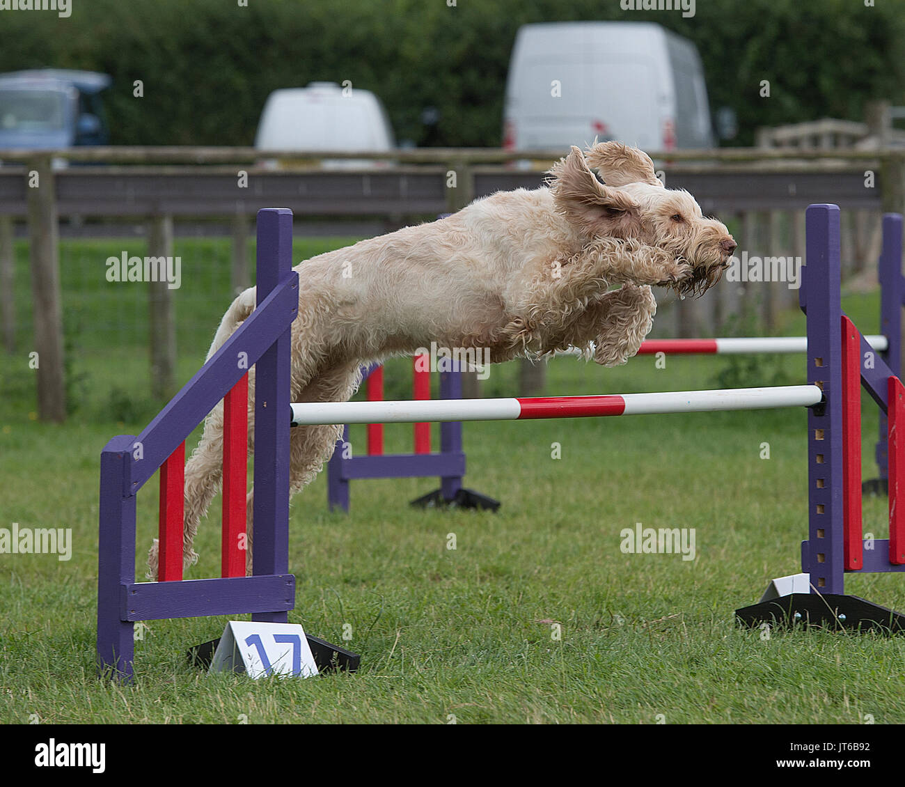
[[[815,385],[772,388],[606,394],[591,397],[426,399],[384,402],[296,402],[292,426],[391,424],[419,421],[512,421],[527,418],[642,416],[811,407],[823,398]]]

